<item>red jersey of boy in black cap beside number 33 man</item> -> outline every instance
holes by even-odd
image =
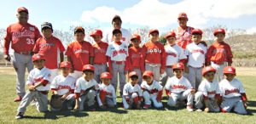
[[[56,37],[50,37],[49,39],[41,37],[33,48],[33,52],[44,54],[45,66],[48,69],[58,68],[58,52],[63,53],[64,51],[65,48],[61,40]]]

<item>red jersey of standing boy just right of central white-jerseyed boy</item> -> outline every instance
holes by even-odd
[[[129,62],[130,62],[130,70],[133,70],[134,68],[140,69],[140,59],[142,55],[142,48],[135,48],[131,47],[129,48]]]

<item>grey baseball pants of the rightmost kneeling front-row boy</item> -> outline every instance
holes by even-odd
[[[247,114],[247,110],[245,109],[240,97],[224,98],[223,102],[220,105],[220,108],[227,112],[230,112],[230,110],[234,108],[234,111],[237,114]]]

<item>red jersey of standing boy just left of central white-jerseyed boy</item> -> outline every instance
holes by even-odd
[[[92,45],[94,52],[94,64],[107,64],[107,42],[99,42]]]

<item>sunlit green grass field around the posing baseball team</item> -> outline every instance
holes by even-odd
[[[163,110],[96,110],[93,112],[63,111],[58,113],[39,113],[34,106],[29,106],[25,118],[15,120],[19,103],[15,98],[15,75],[12,68],[0,68],[0,123],[256,123],[256,69],[238,68],[238,78],[247,91],[248,116],[235,113],[189,113],[185,109],[166,107]],[[118,99],[120,102],[121,99]]]

